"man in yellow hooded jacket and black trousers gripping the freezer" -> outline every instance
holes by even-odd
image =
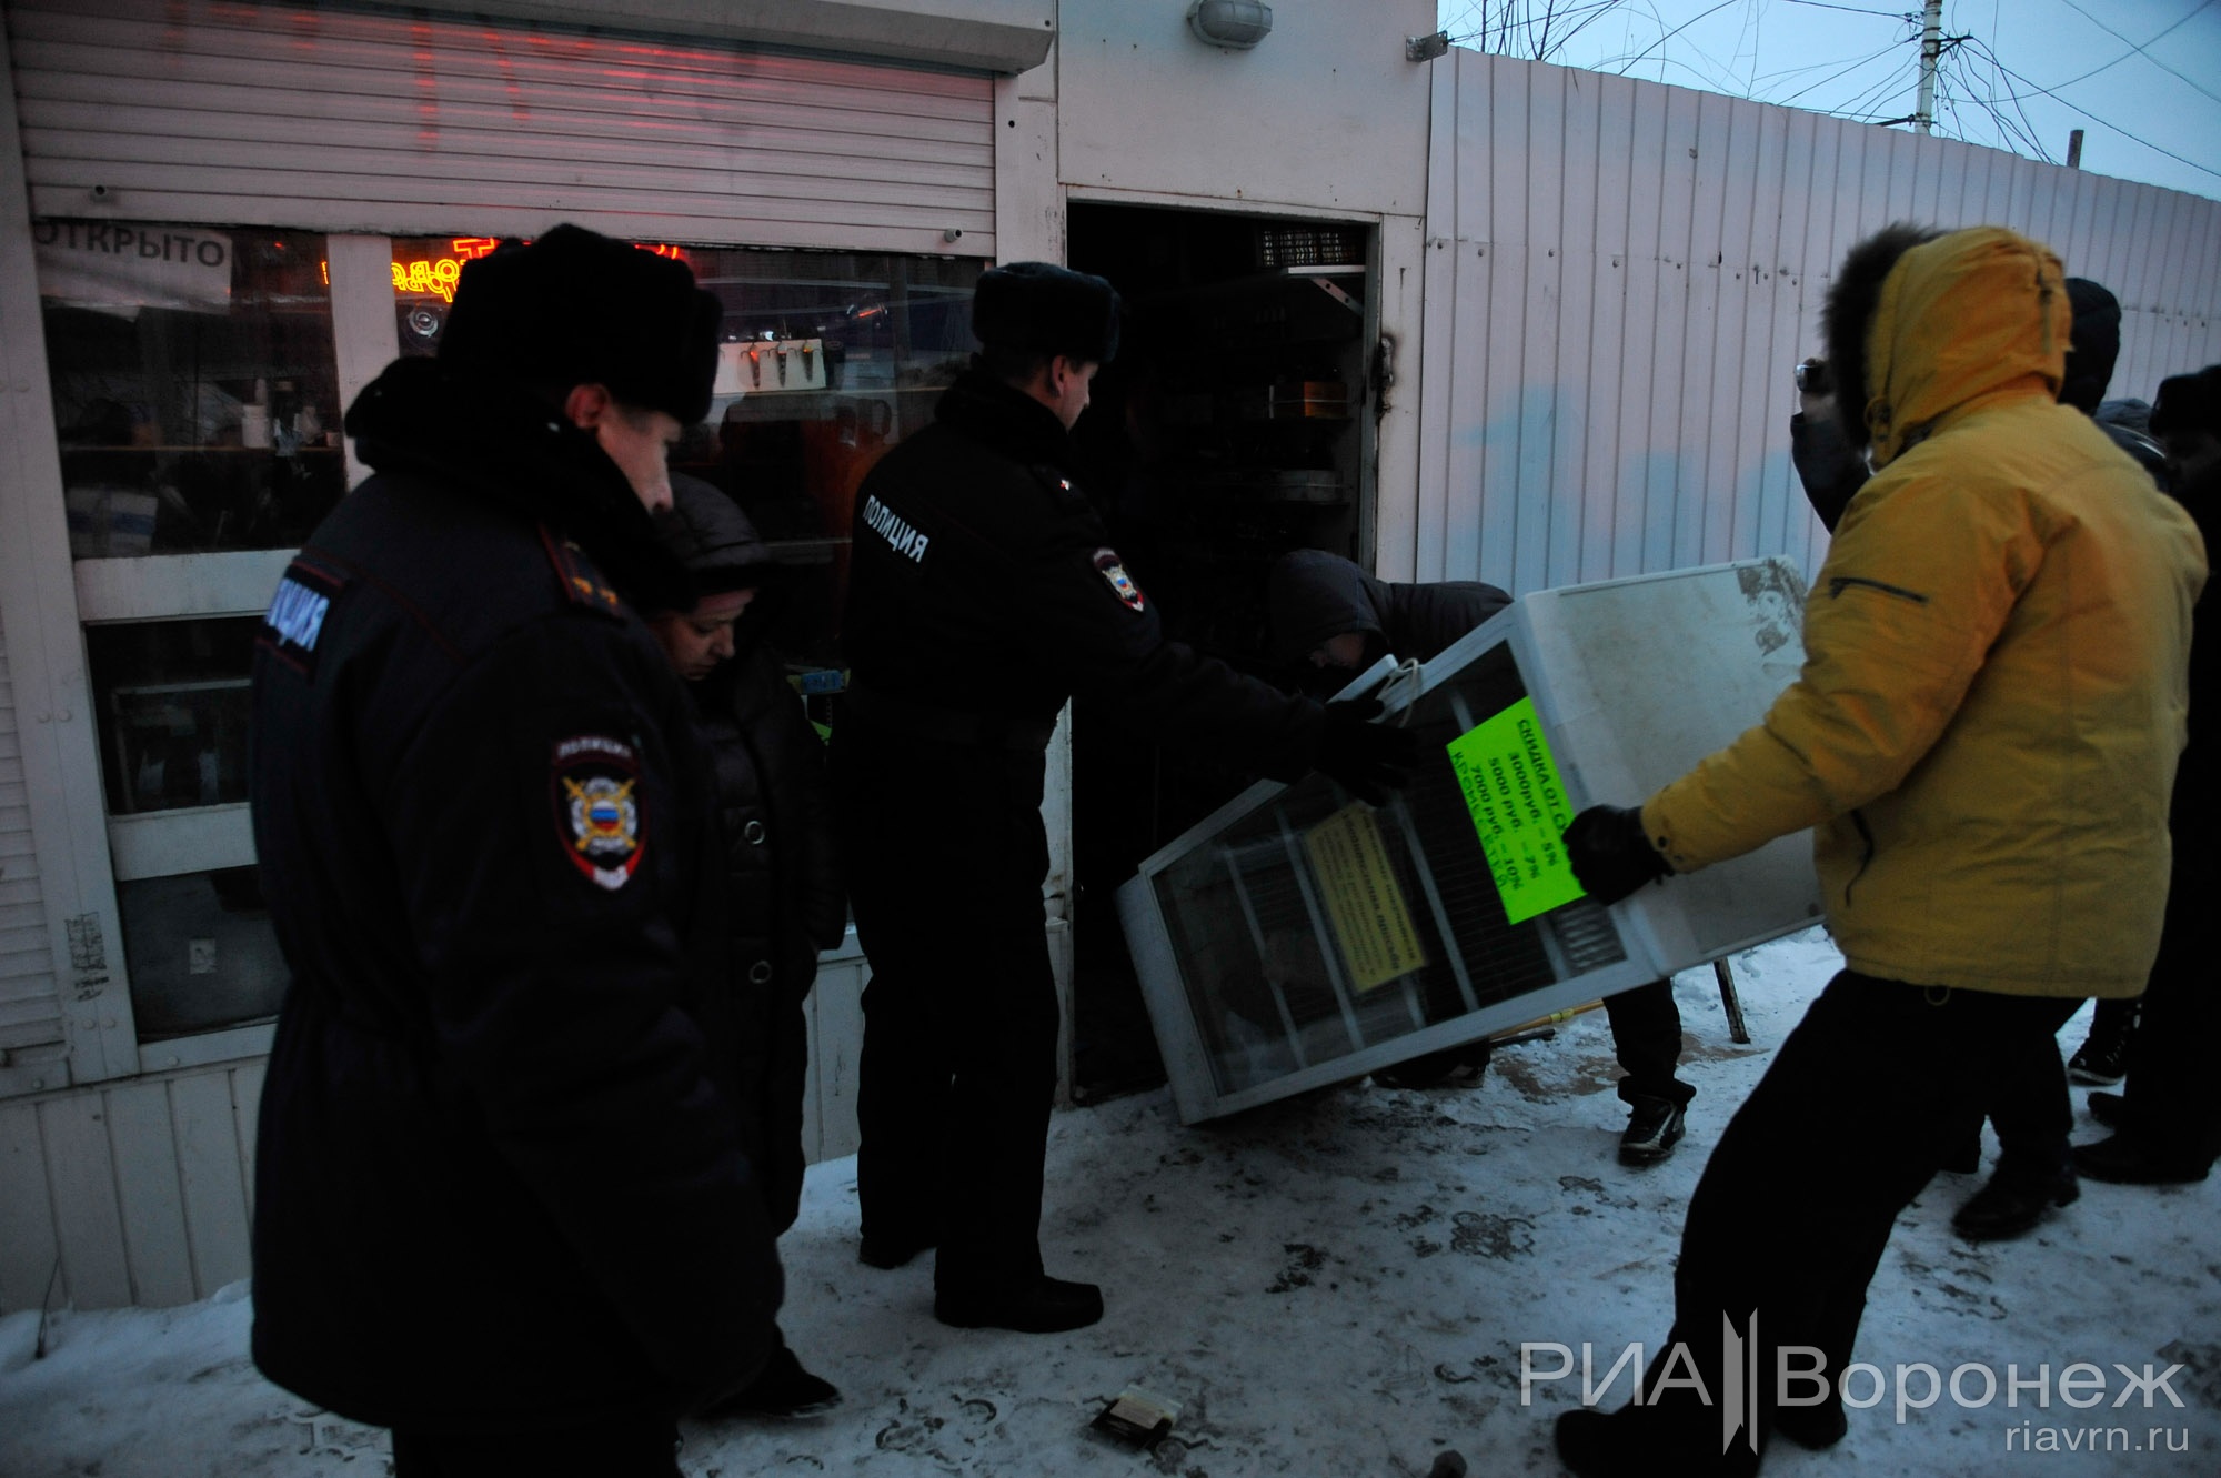
[[[1775,1429],[1841,1438],[1897,1214],[2003,1074],[2063,1072],[2054,1034],[2086,996],[2143,990],[2205,548],[2057,404],[2068,317],[2059,260],[2012,231],[1890,226],[1850,251],[1823,326],[1875,477],[1812,581],[1803,672],[1639,810],[1566,832],[1617,901],[1812,828],[1846,961],[1690,1198],[1644,1403],[1559,1420],[1584,1478],[1748,1474]],[[2059,1110],[2063,1147],[2063,1079]],[[2063,1158],[2008,1170],[2072,1196]]]

